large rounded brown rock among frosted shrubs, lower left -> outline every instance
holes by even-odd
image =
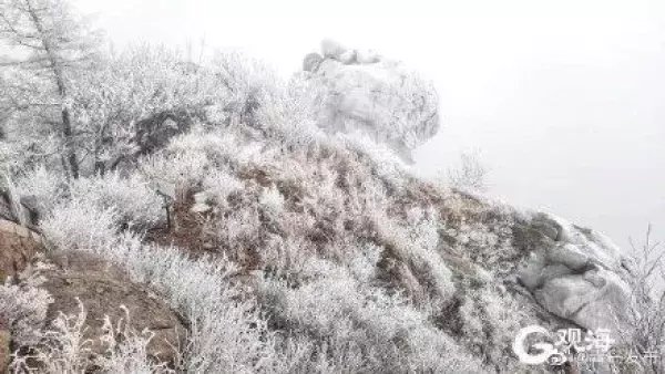
[[[126,309],[132,330],[141,333],[147,329],[154,333],[147,346],[149,356],[175,363],[176,349],[184,346],[185,325],[145,285],[132,282],[124,270],[90,252],[53,253],[49,254],[49,262],[41,272],[45,278],[42,288],[53,298],[48,321],[53,321],[60,312],[76,314],[80,301],[86,312],[85,337],[94,342],[92,352],[100,354],[105,350],[99,340],[104,318],[108,315],[113,323],[126,322],[123,311]]]

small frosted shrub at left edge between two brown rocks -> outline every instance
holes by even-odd
[[[30,284],[0,284],[0,324],[7,323],[19,345],[32,345],[42,336],[47,310],[53,299],[45,290]]]

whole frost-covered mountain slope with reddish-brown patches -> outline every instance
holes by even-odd
[[[328,69],[350,65],[323,54]],[[621,319],[630,263],[607,239],[418,179],[396,155],[417,142],[386,141],[389,123],[362,120],[371,106],[344,120],[355,106],[328,98],[345,85],[320,90],[313,74],[236,95],[252,105],[209,105],[165,147],[103,176],[68,183],[35,168],[17,178],[41,207],[51,251],[120,264],[186,321],[181,360],[145,367],[519,372],[521,328],[596,329],[615,323],[602,319],[608,309]],[[320,125],[331,112],[344,126]],[[423,118],[402,135],[426,139],[438,123]],[[114,364],[155,360],[131,347]]]

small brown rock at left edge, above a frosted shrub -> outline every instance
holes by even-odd
[[[37,232],[0,219],[0,282],[23,270],[42,248]]]

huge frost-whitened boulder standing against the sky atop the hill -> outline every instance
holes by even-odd
[[[318,121],[321,128],[331,133],[361,131],[408,162],[412,149],[439,131],[432,84],[399,62],[324,40],[321,54],[307,54],[303,69],[324,89],[325,105]]]

